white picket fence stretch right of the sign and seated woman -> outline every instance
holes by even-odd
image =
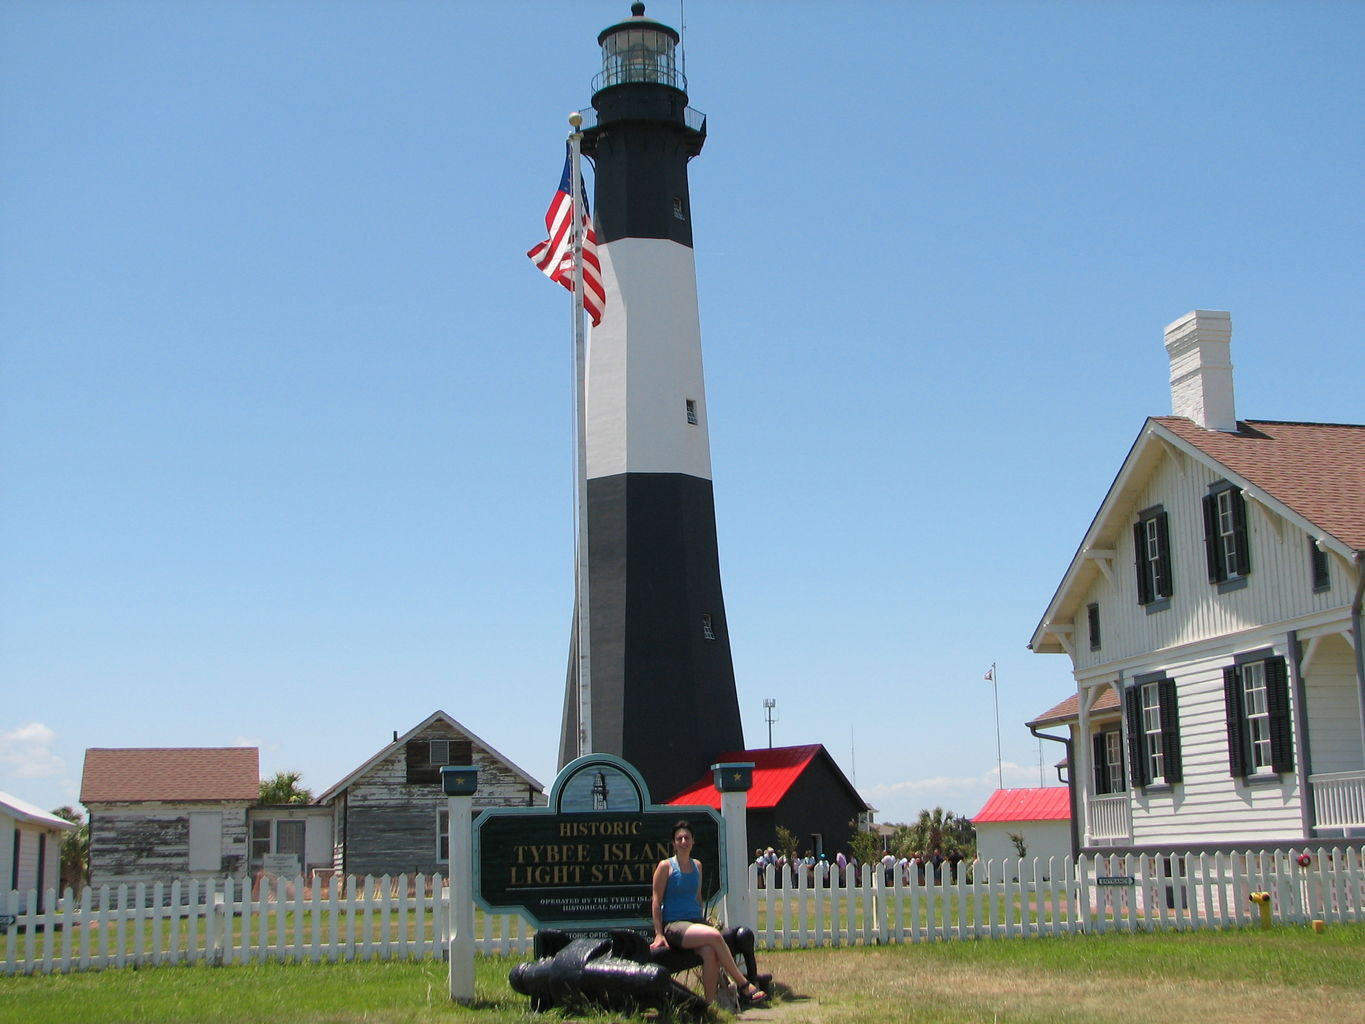
[[[1358,849],[1179,856],[1107,855],[1077,860],[986,862],[901,874],[880,866],[860,878],[819,864],[764,872],[751,892],[759,945],[768,949],[1018,938],[1153,928],[1259,924],[1252,893],[1271,894],[1272,922],[1365,922]]]

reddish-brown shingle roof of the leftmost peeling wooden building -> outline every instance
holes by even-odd
[[[255,747],[91,747],[81,801],[247,800],[261,797]]]

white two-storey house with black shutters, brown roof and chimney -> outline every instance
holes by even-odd
[[[1123,459],[1029,644],[1066,654],[1082,852],[1365,842],[1365,426],[1239,421],[1231,318],[1166,329]]]

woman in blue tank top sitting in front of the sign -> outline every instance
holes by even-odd
[[[650,949],[689,949],[702,957],[702,991],[715,1002],[719,972],[725,971],[738,987],[744,1004],[764,1002],[767,993],[751,984],[725,945],[725,937],[706,923],[702,915],[702,862],[692,856],[692,825],[673,826],[673,856],[654,868],[654,941]]]

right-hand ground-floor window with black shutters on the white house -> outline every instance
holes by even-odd
[[[1234,778],[1294,770],[1294,725],[1289,670],[1269,651],[1239,655],[1223,669],[1227,707],[1227,766]]]

